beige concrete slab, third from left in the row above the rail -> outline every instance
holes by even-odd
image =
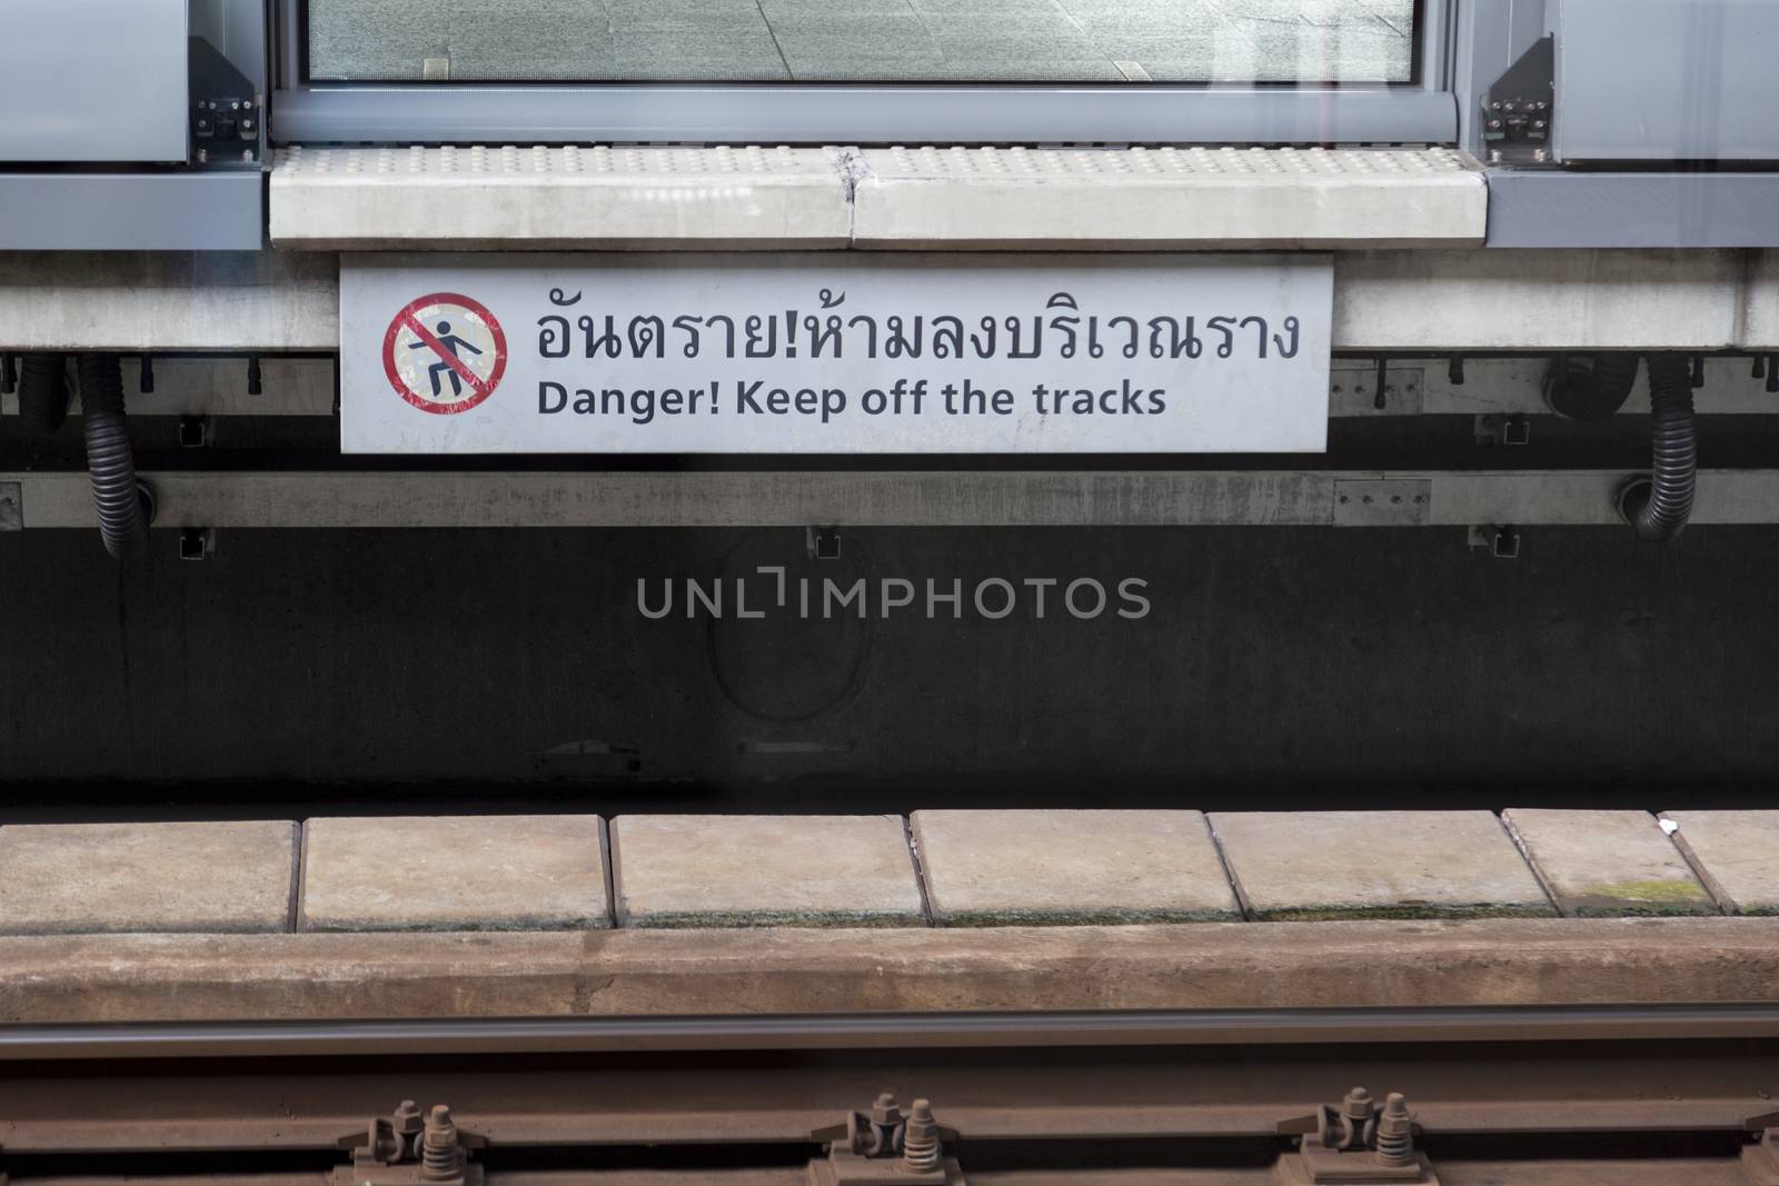
[[[900,816],[623,816],[621,926],[922,926]]]

